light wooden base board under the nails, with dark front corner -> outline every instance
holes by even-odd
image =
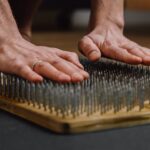
[[[81,133],[150,123],[150,105],[148,103],[145,104],[142,111],[135,107],[130,112],[123,109],[117,114],[110,111],[100,115],[97,112],[89,117],[81,115],[76,118],[58,117],[42,108],[39,109],[13,100],[9,101],[4,97],[0,97],[0,108],[57,133]]]

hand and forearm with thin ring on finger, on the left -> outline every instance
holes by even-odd
[[[40,61],[32,69],[35,62]],[[79,82],[89,77],[72,52],[34,45],[20,34],[7,0],[0,1],[0,71],[39,82]]]

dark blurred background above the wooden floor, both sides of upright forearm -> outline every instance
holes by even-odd
[[[89,20],[89,8],[90,0],[60,0],[59,2],[43,0],[40,11],[35,17],[34,28],[41,30],[84,29]],[[126,0],[125,8],[127,27],[150,27],[149,0]]]

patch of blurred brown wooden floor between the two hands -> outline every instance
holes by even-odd
[[[35,32],[33,42],[77,52],[77,43],[82,36],[82,32]]]

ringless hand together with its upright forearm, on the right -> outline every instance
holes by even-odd
[[[79,50],[89,60],[101,56],[129,64],[150,65],[150,49],[123,35],[124,0],[91,0],[87,34],[79,41]]]

